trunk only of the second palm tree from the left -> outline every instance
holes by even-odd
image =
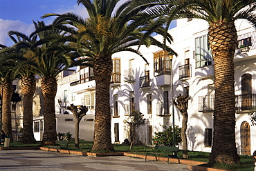
[[[33,134],[33,96],[35,94],[35,77],[21,78],[21,92],[23,94],[23,143],[35,143]]]

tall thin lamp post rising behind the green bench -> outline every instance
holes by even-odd
[[[171,84],[171,94],[172,94],[172,132],[173,132],[173,140],[174,140],[174,146],[175,146],[175,118],[174,118],[174,77],[173,77],[173,70],[172,70],[172,59],[174,57],[174,54],[172,52],[170,52],[168,54],[169,59],[170,59],[170,73],[171,73],[171,80],[172,80],[172,84]]]

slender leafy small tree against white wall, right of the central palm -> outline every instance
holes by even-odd
[[[136,130],[140,125],[145,125],[146,119],[143,119],[144,115],[139,110],[134,110],[129,115],[129,118],[125,120],[125,123],[129,126],[128,128],[128,139],[131,143],[130,149],[133,148],[136,141]]]

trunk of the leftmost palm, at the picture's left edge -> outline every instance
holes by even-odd
[[[10,101],[12,99],[12,81],[3,82],[2,84],[2,130],[6,136],[12,140],[12,114],[10,108]]]

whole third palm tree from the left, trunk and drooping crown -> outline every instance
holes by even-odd
[[[36,73],[42,78],[41,90],[44,106],[44,135],[43,145],[54,144],[57,140],[56,119],[55,119],[55,96],[57,93],[57,74],[67,68],[77,65],[87,65],[84,61],[87,59],[76,60],[77,53],[69,44],[62,43],[63,35],[60,29],[51,29],[52,26],[46,26],[44,21],[35,24],[35,33],[39,41],[35,47],[40,47],[40,52],[35,57],[35,63],[30,63],[35,68]],[[65,39],[66,40],[66,39]],[[65,41],[64,41],[65,42]]]

